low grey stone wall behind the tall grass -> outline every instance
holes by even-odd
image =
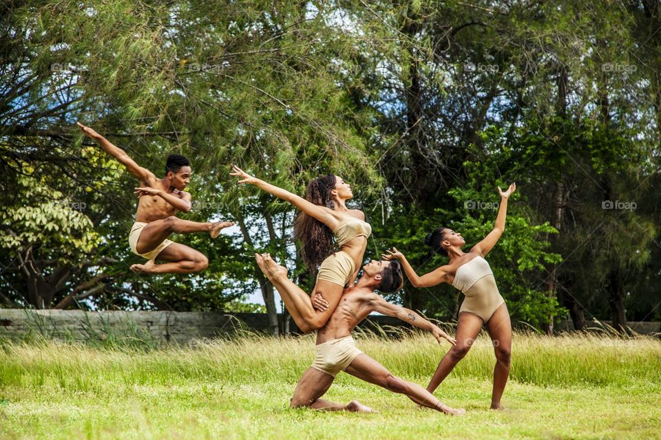
[[[280,330],[284,316],[278,316]],[[290,317],[291,333],[300,333]],[[513,323],[517,327],[516,322]],[[588,322],[590,328],[609,331],[609,321]],[[370,316],[359,329],[397,336],[406,323],[389,316]],[[521,326],[525,328],[525,326]],[[641,334],[660,334],[661,322],[629,322]],[[529,326],[527,326],[529,328]],[[570,320],[556,324],[556,331],[573,331]],[[125,340],[151,344],[189,344],[194,340],[218,338],[241,331],[268,333],[266,314],[176,311],[81,311],[0,309],[0,338],[23,340],[43,337],[60,340]]]

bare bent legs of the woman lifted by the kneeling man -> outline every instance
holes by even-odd
[[[298,328],[307,333],[308,331],[321,329],[326,325],[330,315],[333,314],[335,307],[339,304],[339,298],[342,297],[342,292],[344,292],[342,286],[328,281],[319,281],[315,285],[315,291],[324,295],[324,298],[328,301],[328,309],[316,311],[312,307],[310,296],[287,278],[286,267],[277,265],[269,254],[255,254],[255,259],[266,278],[269,278],[277,292],[280,293],[285,307],[287,307]]]

